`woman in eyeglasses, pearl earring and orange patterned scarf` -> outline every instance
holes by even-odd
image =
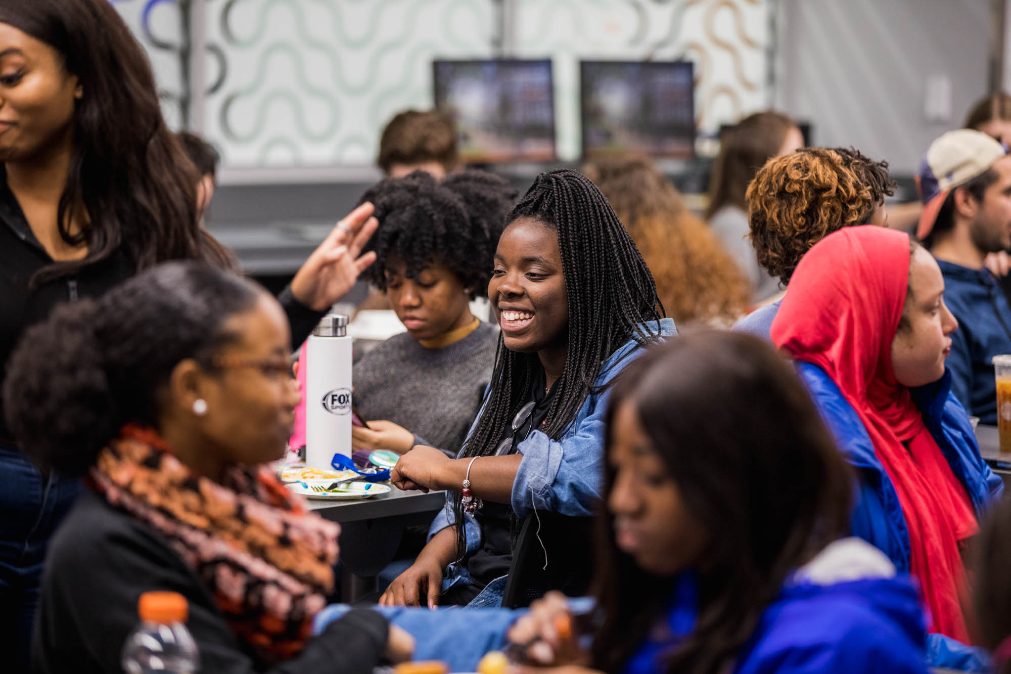
[[[7,422],[39,465],[86,484],[50,546],[34,671],[121,671],[149,590],[186,597],[205,672],[367,674],[409,657],[410,638],[374,613],[308,638],[338,528],[266,466],[299,400],[289,349],[277,301],[195,262],[27,331],[4,385]]]

